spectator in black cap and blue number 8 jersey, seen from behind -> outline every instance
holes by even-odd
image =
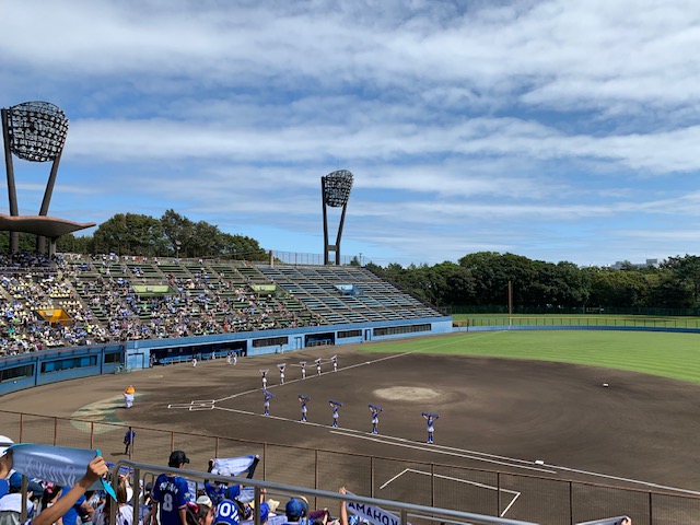
[[[189,458],[183,451],[174,451],[167,462],[172,468],[183,468],[189,463]],[[168,476],[161,474],[153,483],[153,508],[147,520],[147,524],[158,525],[187,525],[187,501],[189,488],[187,480],[182,476]],[[158,514],[160,512],[160,514]]]

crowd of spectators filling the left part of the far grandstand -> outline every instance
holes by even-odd
[[[256,293],[250,278],[225,276],[201,260],[186,267],[179,259],[18,254],[0,256],[0,353],[5,355],[324,323],[292,294]],[[148,285],[166,288],[144,293]],[[52,322],[39,314],[57,308],[67,317]]]

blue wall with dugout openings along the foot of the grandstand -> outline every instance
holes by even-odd
[[[60,381],[144,369],[151,366],[152,361],[168,364],[192,355],[210,359],[229,352],[253,357],[320,345],[357,345],[452,331],[452,317],[445,316],[43,350],[0,359],[0,395]]]

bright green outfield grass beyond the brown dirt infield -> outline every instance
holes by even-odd
[[[612,330],[479,331],[362,346],[422,352],[586,364],[700,383],[700,335]]]

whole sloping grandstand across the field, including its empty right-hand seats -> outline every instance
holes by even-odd
[[[66,256],[42,266],[5,267],[0,279],[10,353],[442,317],[359,267]]]

